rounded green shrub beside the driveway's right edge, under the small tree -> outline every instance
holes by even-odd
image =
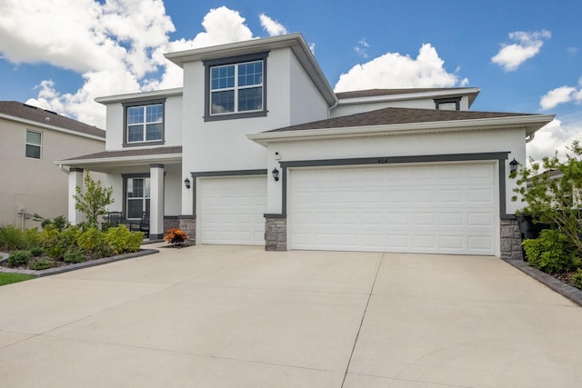
[[[539,238],[526,240],[522,244],[529,264],[547,274],[573,271],[580,264],[577,247],[557,229],[544,230]]]

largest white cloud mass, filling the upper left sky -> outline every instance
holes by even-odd
[[[160,0],[0,0],[0,53],[15,64],[45,63],[83,76],[71,93],[44,80],[37,104],[105,128],[105,107],[94,99],[182,85],[182,70],[164,53],[246,39],[253,34],[238,12],[211,9],[204,31],[169,40],[175,26]]]

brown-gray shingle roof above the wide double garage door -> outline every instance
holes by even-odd
[[[515,117],[534,114],[446,111],[438,109],[384,108],[361,114],[320,120],[313,123],[297,124],[266,132],[302,131],[309,129],[346,128],[370,125],[430,123],[439,121],[474,120],[496,117]]]

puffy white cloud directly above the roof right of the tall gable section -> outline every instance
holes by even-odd
[[[347,73],[340,75],[335,90],[346,92],[373,88],[457,85],[457,75],[447,73],[444,64],[437,50],[430,44],[422,45],[415,59],[409,55],[386,53],[363,65],[356,65]],[[463,84],[467,83],[467,79],[463,80]]]

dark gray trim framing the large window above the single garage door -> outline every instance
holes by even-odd
[[[222,120],[233,120],[239,118],[249,118],[249,117],[264,117],[267,114],[266,109],[266,58],[269,56],[269,52],[265,51],[262,53],[247,54],[247,55],[236,55],[229,56],[227,58],[209,59],[203,61],[204,69],[204,121],[222,121]],[[263,109],[255,112],[241,112],[235,114],[210,114],[210,68],[213,66],[223,66],[223,65],[237,65],[244,64],[246,62],[253,61],[263,61]]]

